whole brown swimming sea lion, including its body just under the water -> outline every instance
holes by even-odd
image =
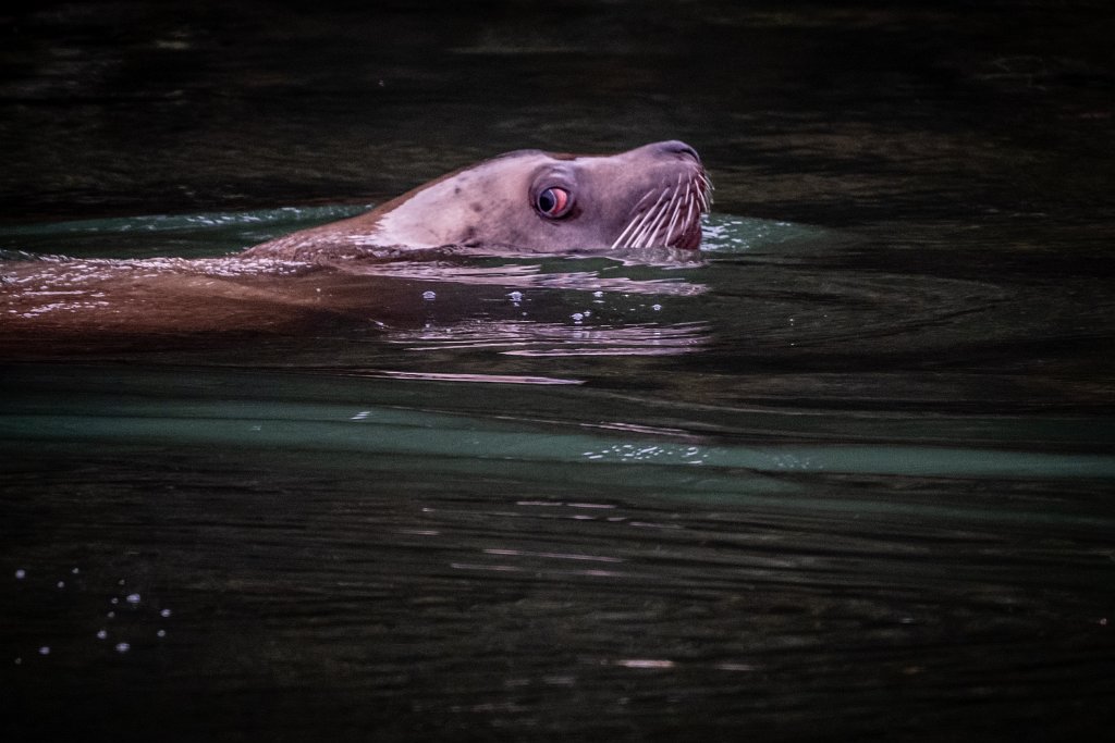
[[[452,271],[440,261],[458,253],[694,252],[710,189],[697,153],[681,141],[611,156],[521,150],[450,173],[365,215],[225,257],[0,262],[0,355],[151,349],[190,338],[212,343],[234,333],[307,333],[348,321],[414,326],[426,322],[430,303],[407,280],[439,278],[439,271]],[[450,275],[436,304],[453,316],[484,302],[481,292],[464,290],[449,301],[454,284],[601,289],[614,281],[594,283],[592,273]],[[671,286],[634,281],[623,291],[701,290]]]

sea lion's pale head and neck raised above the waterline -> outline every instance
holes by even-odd
[[[322,261],[369,248],[599,253],[700,246],[711,183],[683,141],[609,156],[524,149],[449,173],[357,217],[251,247],[245,258]]]

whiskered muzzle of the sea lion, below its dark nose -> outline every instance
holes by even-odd
[[[610,250],[700,247],[700,221],[712,204],[712,180],[698,164],[678,174],[677,183],[648,190]]]

